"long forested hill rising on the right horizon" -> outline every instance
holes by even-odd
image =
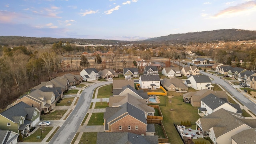
[[[189,32],[186,34],[170,34],[168,36],[160,36],[150,38],[145,41],[151,42],[211,42],[211,41],[237,41],[237,40],[256,40],[256,31],[251,30],[212,30],[204,32]]]

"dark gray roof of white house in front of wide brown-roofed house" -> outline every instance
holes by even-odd
[[[226,103],[224,100],[218,98],[214,94],[209,94],[208,96],[202,98],[201,101],[204,102],[212,110],[215,110],[216,108],[218,108],[222,104]]]

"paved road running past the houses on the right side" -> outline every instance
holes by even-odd
[[[233,86],[231,86],[228,82],[225,80],[219,78],[218,76],[209,74],[207,72],[200,71],[200,73],[209,76],[212,78],[212,83],[220,84],[223,88],[226,89],[232,96],[234,96],[237,100],[239,100],[244,106],[246,106],[248,109],[250,109],[254,114],[256,114],[256,104],[249,100],[246,96],[244,96],[241,92],[236,90]]]

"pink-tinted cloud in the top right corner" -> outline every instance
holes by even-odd
[[[241,4],[237,4],[236,6],[230,6],[217,14],[214,15],[215,18],[221,16],[232,16],[232,14],[237,14],[240,12],[248,12],[250,10],[256,10],[256,1],[247,1]]]

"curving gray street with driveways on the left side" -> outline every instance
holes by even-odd
[[[54,135],[49,144],[70,144],[74,138],[82,120],[84,119],[92,101],[92,95],[95,88],[112,82],[100,82],[86,87],[70,116],[66,119],[60,130]]]

